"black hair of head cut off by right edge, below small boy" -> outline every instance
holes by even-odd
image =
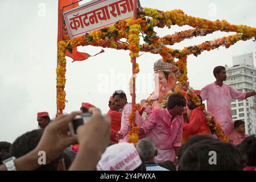
[[[246,137],[242,143],[239,144],[239,149],[247,158],[247,166],[256,166],[256,137],[252,135]]]

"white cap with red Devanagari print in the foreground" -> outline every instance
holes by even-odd
[[[142,164],[133,143],[117,143],[106,148],[97,164],[97,171],[133,171]]]

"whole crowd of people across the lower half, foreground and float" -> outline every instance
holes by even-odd
[[[164,64],[160,65],[166,68]],[[160,84],[174,78],[165,75],[159,76]],[[256,92],[241,93],[224,84],[225,67],[214,68],[213,75],[216,81],[198,93],[187,97],[173,93],[166,107],[149,106],[146,118],[143,113],[148,105],[144,103],[134,117],[139,135],[136,146],[128,143],[133,105],[123,90],[115,90],[110,97],[106,115],[87,102],[82,102],[80,111],[59,115],[52,122],[46,111],[40,112],[40,129],[21,135],[12,144],[0,142],[0,170],[256,170],[256,137],[246,135],[245,122],[232,121],[230,107],[232,99],[246,99]],[[207,124],[200,109],[204,100],[229,142],[221,141]],[[72,135],[69,123],[82,113],[92,113],[92,117]]]

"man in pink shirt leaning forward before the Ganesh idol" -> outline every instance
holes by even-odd
[[[139,128],[139,135],[152,139],[158,150],[156,162],[171,160],[177,165],[177,153],[181,146],[183,129],[183,110],[186,100],[181,94],[168,98],[166,109],[151,111]]]

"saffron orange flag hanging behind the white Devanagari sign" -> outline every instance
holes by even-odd
[[[74,3],[74,4],[71,5],[72,3]],[[67,5],[70,5],[70,6],[67,6]],[[67,6],[67,7],[64,7],[64,6]],[[79,6],[79,3],[77,2],[77,0],[59,0],[57,42],[60,42],[61,40],[63,40],[63,35],[61,35],[61,32],[62,32],[62,34],[64,32],[64,19],[63,19],[63,15],[61,14],[61,10],[64,7],[63,11],[67,11],[67,10],[70,10],[73,7],[77,7],[77,6]],[[61,28],[62,28],[62,30],[61,30]],[[99,53],[102,53],[102,52],[104,52],[103,49]],[[96,55],[98,55],[99,53],[97,53]],[[93,56],[96,56],[96,55],[93,55]],[[88,57],[90,57],[90,55],[88,53],[77,51],[76,47],[73,48],[72,53],[67,50],[66,56],[71,57],[73,59],[73,61],[83,61],[83,60],[88,59]]]

